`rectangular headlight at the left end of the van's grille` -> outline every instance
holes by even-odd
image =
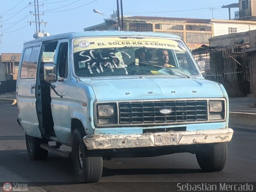
[[[104,103],[97,105],[97,124],[117,124],[117,107],[115,103]]]

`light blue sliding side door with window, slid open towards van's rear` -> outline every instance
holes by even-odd
[[[39,45],[24,50],[20,78],[18,79],[16,90],[22,128],[26,134],[34,137],[41,136],[36,113],[35,95],[36,68],[39,53]]]

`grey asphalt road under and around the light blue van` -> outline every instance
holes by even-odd
[[[256,131],[238,129],[228,144],[228,160],[220,172],[202,172],[195,155],[188,153],[117,158],[104,161],[100,182],[80,184],[69,158],[49,153],[45,161],[29,160],[24,131],[16,122],[17,111],[16,106],[0,106],[0,182],[36,186],[30,191],[156,192],[171,191],[166,182],[256,182]]]

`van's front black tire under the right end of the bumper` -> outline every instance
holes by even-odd
[[[196,159],[204,172],[221,171],[228,157],[228,144],[226,142],[204,144],[202,150],[196,152]]]

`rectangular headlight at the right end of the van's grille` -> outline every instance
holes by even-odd
[[[209,120],[225,119],[225,102],[209,101]]]

